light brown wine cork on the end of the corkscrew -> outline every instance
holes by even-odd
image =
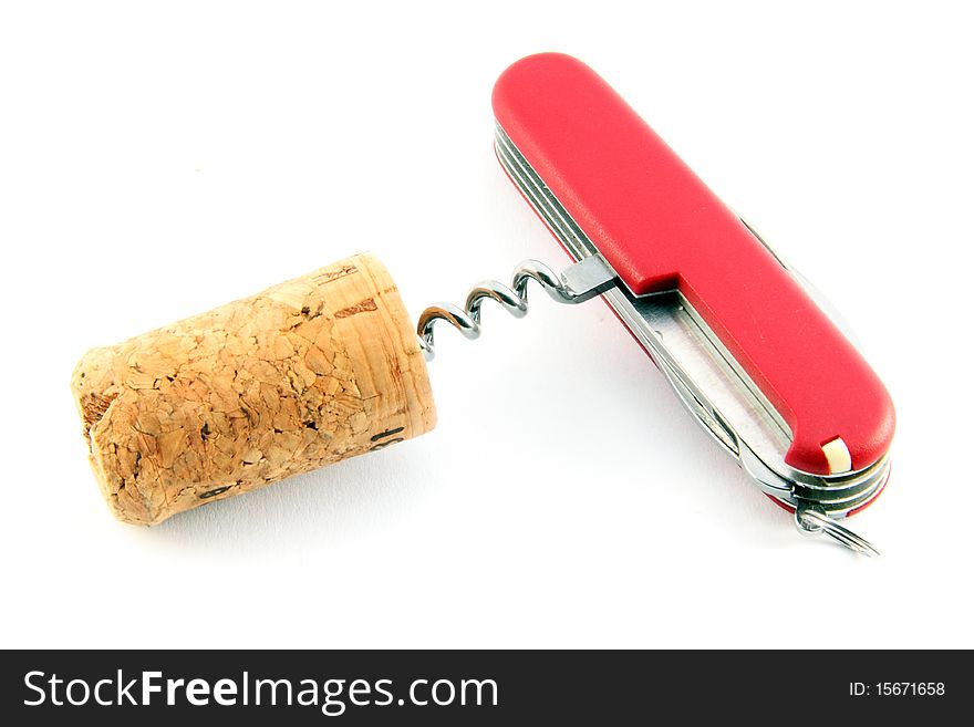
[[[93,349],[71,388],[108,507],[137,525],[436,422],[415,330],[367,253]]]

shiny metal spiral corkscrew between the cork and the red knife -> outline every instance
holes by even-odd
[[[511,274],[510,285],[498,280],[477,283],[467,293],[463,308],[453,303],[434,303],[419,315],[416,334],[426,361],[435,355],[433,325],[436,321],[447,321],[466,339],[480,335],[480,304],[485,300],[500,303],[515,318],[528,313],[528,281],[537,281],[551,300],[558,303],[576,304],[591,300],[612,285],[615,273],[601,256],[586,258],[566,270],[561,276],[537,260],[525,260]]]

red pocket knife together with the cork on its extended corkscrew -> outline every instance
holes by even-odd
[[[887,484],[892,402],[797,273],[580,61],[518,61],[493,102],[500,166],[572,263],[527,260],[414,328],[359,255],[89,352],[72,386],[115,516],[155,525],[428,432],[437,321],[476,339],[485,301],[521,318],[537,284],[602,298],[800,532],[877,554],[841,521]]]

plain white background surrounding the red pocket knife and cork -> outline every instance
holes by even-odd
[[[974,646],[965,3],[12,4],[3,646]],[[363,249],[414,315],[567,264],[491,150],[495,79],[543,50],[857,331],[899,415],[851,522],[882,558],[799,537],[603,304],[537,293],[475,343],[439,331],[431,434],[112,520],[68,386],[85,349]]]

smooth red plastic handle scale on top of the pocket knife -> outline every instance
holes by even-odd
[[[636,295],[678,288],[791,428],[785,461],[853,470],[889,450],[882,383],[795,278],[590,67],[558,53],[494,89],[501,128]]]

